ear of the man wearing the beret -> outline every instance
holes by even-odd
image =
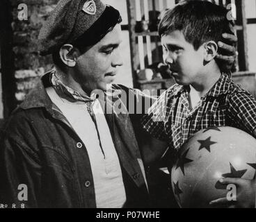
[[[72,44],[64,44],[60,49],[60,58],[68,67],[74,67],[77,63],[79,51]]]

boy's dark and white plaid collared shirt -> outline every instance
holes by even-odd
[[[232,126],[254,134],[256,101],[223,74],[200,103],[189,109],[189,86],[173,85],[152,105],[142,119],[153,137],[178,150],[189,137],[212,126]]]

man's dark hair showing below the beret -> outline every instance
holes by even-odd
[[[120,12],[112,6],[106,5],[106,9],[102,13],[102,16],[99,17],[87,31],[77,40],[74,40],[74,42],[67,42],[67,44],[72,44],[72,46],[79,49],[81,53],[85,53],[90,46],[97,44],[97,42],[102,40],[107,33],[113,30],[116,24],[120,24],[121,22],[122,17]],[[52,53],[52,60],[54,61],[54,65],[65,71],[65,64],[59,55],[60,49],[61,48]]]

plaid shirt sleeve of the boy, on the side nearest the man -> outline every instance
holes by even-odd
[[[147,114],[142,117],[141,123],[143,128],[147,133],[150,133],[152,137],[167,142],[168,135],[166,135],[164,126],[166,120],[166,108],[166,92],[164,92],[159,99],[154,102]]]

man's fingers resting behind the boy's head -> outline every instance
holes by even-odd
[[[216,58],[222,60],[225,64],[223,67],[225,70],[230,70],[234,63],[234,60],[237,58],[237,51],[234,45],[237,43],[237,36],[232,34],[223,33],[223,38],[225,38],[230,44],[225,44],[223,42],[218,42],[218,46],[225,50],[225,55],[218,54]]]

